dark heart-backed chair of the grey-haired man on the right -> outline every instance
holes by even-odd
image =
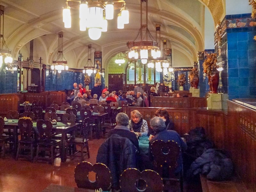
[[[151,151],[156,170],[164,180],[164,188],[168,188],[168,181],[177,181],[180,184],[180,191],[183,192],[183,168],[175,174],[181,154],[178,143],[173,140],[166,143],[163,140],[155,140],[151,144]]]

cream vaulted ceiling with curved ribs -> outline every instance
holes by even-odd
[[[95,1],[95,0],[91,0]],[[204,50],[205,6],[212,14],[216,26],[224,16],[223,0],[148,0],[148,29],[155,36],[155,24],[161,25],[161,41],[167,40],[173,57],[180,65],[192,66],[197,52]],[[87,60],[87,45],[93,51],[102,51],[102,67],[108,68],[113,55],[127,51],[127,41],[133,41],[140,28],[140,0],[126,0],[130,23],[124,29],[116,28],[118,11],[114,20],[108,22],[108,32],[93,41],[88,31],[79,30],[78,10],[71,9],[72,27],[64,28],[62,7],[65,0],[1,0],[4,8],[4,39],[12,56],[19,51],[29,57],[29,41],[34,39],[34,60],[40,57],[44,64],[51,65],[57,55],[58,32],[63,31],[63,53],[71,68],[83,68]],[[145,12],[144,12],[145,14]],[[213,35],[214,31],[212,31]],[[177,64],[179,66],[179,64]]]

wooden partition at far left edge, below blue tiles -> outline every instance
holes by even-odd
[[[0,115],[5,116],[9,110],[18,110],[18,94],[0,94]]]

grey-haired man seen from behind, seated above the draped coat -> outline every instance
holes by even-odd
[[[129,117],[125,113],[118,113],[116,115],[116,127],[111,129],[108,134],[107,138],[109,138],[113,134],[118,134],[121,137],[126,137],[132,141],[133,145],[139,149],[139,141],[137,136],[134,132],[131,132],[130,129],[127,127],[129,124]]]

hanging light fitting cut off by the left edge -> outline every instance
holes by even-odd
[[[8,67],[12,66],[12,51],[9,50],[4,41],[4,6],[0,5],[0,68],[3,60]]]

